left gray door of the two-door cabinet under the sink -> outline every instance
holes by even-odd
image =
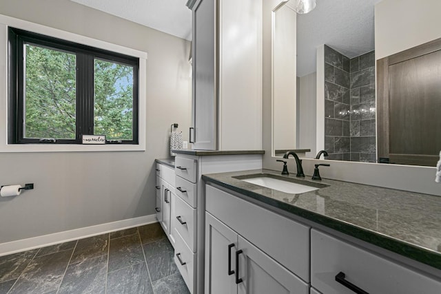
[[[237,293],[236,251],[236,232],[205,212],[205,294]]]

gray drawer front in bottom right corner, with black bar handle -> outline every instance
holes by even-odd
[[[441,289],[441,281],[311,230],[311,286],[321,293],[353,294],[336,282],[338,273],[344,273],[345,280],[367,293],[435,294]]]

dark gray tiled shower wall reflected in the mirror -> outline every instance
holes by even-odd
[[[325,149],[329,159],[375,162],[375,55],[353,59],[325,45]]]

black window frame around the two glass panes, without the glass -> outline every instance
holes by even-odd
[[[94,48],[52,36],[8,28],[8,144],[37,144],[42,138],[23,138],[23,44],[32,43],[76,55],[76,136],[55,144],[81,144],[81,136],[94,133],[94,60],[100,59],[133,67],[132,140],[107,143],[139,145],[139,58]]]

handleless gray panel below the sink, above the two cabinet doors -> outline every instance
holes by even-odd
[[[309,227],[209,185],[205,197],[209,213],[309,282]]]

